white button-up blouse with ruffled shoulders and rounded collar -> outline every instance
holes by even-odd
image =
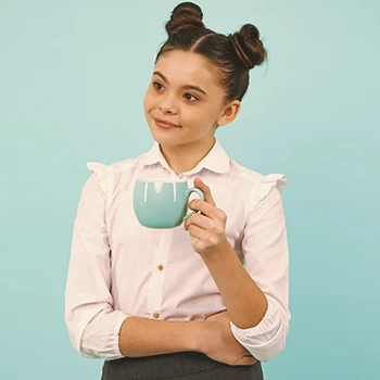
[[[216,140],[190,172],[176,175],[159,143],[131,160],[87,164],[74,221],[65,289],[65,322],[73,346],[85,357],[123,357],[118,333],[129,316],[204,320],[226,309],[219,290],[183,225],[142,227],[132,206],[138,177],[200,177],[216,206],[227,214],[226,236],[242,265],[268,300],[263,320],[236,339],[262,362],[286,343],[289,312],[289,252],[280,192],[281,174],[262,174],[233,162]],[[193,194],[192,194],[193,195]],[[197,198],[190,197],[190,199]]]

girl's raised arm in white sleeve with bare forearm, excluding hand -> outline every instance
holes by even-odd
[[[282,180],[278,188],[277,180]],[[242,240],[245,268],[228,241],[216,254],[202,255],[227,307],[235,338],[262,362],[283,349],[289,330],[289,254],[279,193],[284,183],[283,176],[269,175],[253,193]]]

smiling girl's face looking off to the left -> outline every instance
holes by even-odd
[[[225,96],[203,56],[181,50],[161,55],[143,101],[154,140],[162,145],[212,144],[217,124],[224,123]],[[175,126],[165,127],[160,119]]]

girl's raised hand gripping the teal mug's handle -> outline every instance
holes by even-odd
[[[191,236],[191,244],[195,252],[203,256],[217,254],[228,243],[226,238],[227,215],[217,208],[208,186],[201,178],[194,179],[194,187],[204,193],[204,201],[192,200],[189,208],[198,210],[202,214],[192,214],[185,220],[185,229]]]

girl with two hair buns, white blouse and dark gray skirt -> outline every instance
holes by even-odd
[[[178,4],[143,106],[155,140],[137,159],[88,163],[74,223],[65,321],[74,347],[110,379],[263,379],[289,330],[284,175],[233,162],[215,139],[232,122],[266,50],[255,26],[207,29]],[[139,177],[185,179],[200,211],[172,229],[142,227]]]

